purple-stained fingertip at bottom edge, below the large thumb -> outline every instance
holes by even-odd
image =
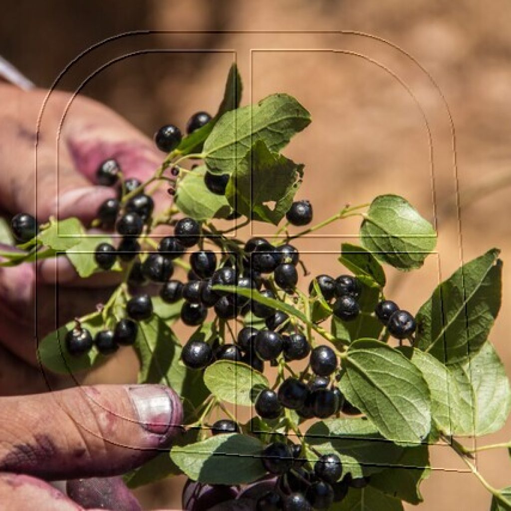
[[[142,511],[122,477],[92,477],[67,481],[67,496],[85,509]]]

